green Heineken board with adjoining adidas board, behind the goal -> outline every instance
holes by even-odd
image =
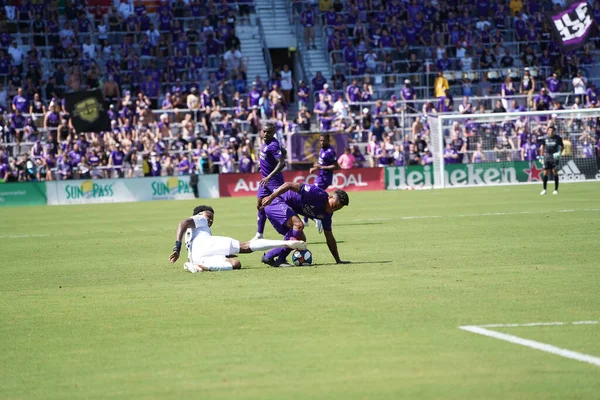
[[[563,158],[558,174],[562,181],[600,179],[594,158]],[[478,164],[448,164],[445,166],[445,186],[482,186],[518,184],[542,180],[543,165],[539,161],[486,162]],[[388,167],[385,187],[388,190],[432,188],[433,166]]]

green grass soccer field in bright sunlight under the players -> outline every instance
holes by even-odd
[[[208,202],[247,240],[254,198],[0,209],[2,399],[592,399],[600,184],[350,193],[318,265],[167,262]],[[277,237],[269,227],[266,237]],[[529,343],[529,342],[527,342]],[[570,353],[569,353],[570,354]]]

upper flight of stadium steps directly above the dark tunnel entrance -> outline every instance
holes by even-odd
[[[267,47],[270,49],[297,46],[295,25],[290,23],[286,1],[288,0],[255,0],[256,15],[262,22]]]

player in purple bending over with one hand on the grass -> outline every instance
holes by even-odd
[[[329,194],[314,185],[293,182],[284,183],[262,201],[271,225],[286,240],[296,238],[306,241],[304,223],[298,215],[322,221],[327,247],[338,264],[347,264],[347,261],[340,259],[331,231],[331,218],[334,212],[349,203],[348,193],[343,190]],[[263,256],[262,262],[273,267],[289,266],[285,259],[290,252],[289,248],[271,250]]]

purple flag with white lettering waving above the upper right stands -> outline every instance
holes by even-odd
[[[563,51],[573,51],[583,46],[596,32],[594,13],[587,1],[576,1],[558,14],[548,15],[552,29]]]

